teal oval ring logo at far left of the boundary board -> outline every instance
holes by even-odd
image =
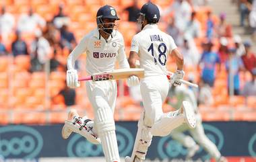
[[[41,134],[28,126],[0,128],[0,155],[5,158],[35,158],[42,150]]]

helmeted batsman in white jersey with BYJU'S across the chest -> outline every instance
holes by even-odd
[[[69,87],[79,87],[74,65],[78,56],[84,52],[87,54],[88,75],[112,71],[116,61],[121,69],[129,68],[123,36],[114,29],[116,20],[119,20],[119,17],[114,7],[104,5],[98,9],[97,28],[84,36],[67,58],[67,85]],[[127,84],[129,86],[139,84],[138,77],[134,75],[129,77]],[[63,138],[68,138],[71,132],[77,132],[92,143],[99,144],[101,141],[106,162],[120,162],[113,117],[117,99],[117,83],[116,81],[87,81],[86,91],[94,108],[94,122],[87,116],[79,117],[75,110],[71,110],[68,121],[63,126]]]

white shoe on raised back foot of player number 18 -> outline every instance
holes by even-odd
[[[183,102],[181,113],[184,115],[189,128],[195,128],[197,120],[195,120],[195,112],[189,102]]]

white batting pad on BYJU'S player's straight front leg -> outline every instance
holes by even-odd
[[[95,124],[106,162],[120,161],[113,112],[102,97],[96,97]]]

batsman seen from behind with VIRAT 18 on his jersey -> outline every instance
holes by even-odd
[[[141,97],[144,111],[137,124],[138,130],[131,157],[125,161],[144,161],[152,136],[167,136],[183,123],[195,128],[195,114],[189,102],[183,102],[181,109],[176,112],[162,111],[169,84],[181,85],[183,79],[183,55],[177,50],[174,40],[158,28],[160,19],[159,9],[153,3],[146,3],[141,7],[138,23],[141,32],[133,36],[129,65],[135,67],[135,60],[139,56],[140,68],[145,70],[145,77],[140,81]],[[170,83],[166,77],[166,60],[168,54],[177,60],[177,71]]]

